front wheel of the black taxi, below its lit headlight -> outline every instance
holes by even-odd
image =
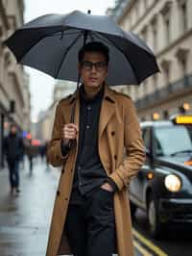
[[[159,222],[157,207],[156,207],[156,198],[153,194],[150,194],[148,201],[148,211],[147,211],[148,223],[150,235],[153,238],[160,238],[161,235],[161,223]]]

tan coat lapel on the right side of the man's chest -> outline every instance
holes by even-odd
[[[115,97],[112,90],[108,89],[108,86],[105,86],[104,99],[102,102],[102,108],[100,112],[100,122],[99,122],[99,139],[104,132],[109,119],[115,113]]]

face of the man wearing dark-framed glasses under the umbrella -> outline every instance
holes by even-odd
[[[105,56],[102,53],[85,52],[80,72],[85,88],[100,87],[108,75]]]

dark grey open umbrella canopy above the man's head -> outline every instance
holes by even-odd
[[[78,81],[78,52],[84,42],[102,41],[109,49],[107,83],[139,85],[159,71],[152,50],[107,15],[75,11],[40,16],[16,30],[5,43],[16,60],[54,78]]]

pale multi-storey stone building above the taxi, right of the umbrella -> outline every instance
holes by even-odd
[[[140,87],[126,86],[141,119],[191,112],[192,1],[119,0],[108,10],[126,32],[132,31],[155,52],[160,73]]]

